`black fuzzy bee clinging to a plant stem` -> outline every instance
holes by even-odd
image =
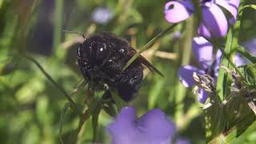
[[[126,39],[102,32],[85,39],[78,47],[78,66],[84,78],[94,86],[114,88],[124,101],[129,102],[142,85],[142,65],[162,75],[142,55],[122,71],[136,53]]]

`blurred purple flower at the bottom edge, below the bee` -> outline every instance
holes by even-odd
[[[122,108],[108,126],[113,144],[170,144],[175,126],[162,110],[150,110],[137,118],[133,107]]]

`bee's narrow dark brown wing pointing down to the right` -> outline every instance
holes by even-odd
[[[137,50],[135,50],[133,47],[130,47],[128,55],[133,57],[134,54],[136,54],[136,53],[137,53]],[[146,58],[144,58],[142,55],[139,55],[138,58],[136,59],[136,61],[142,63],[144,66],[146,66],[148,69],[150,69],[150,71],[152,73],[154,73],[154,74],[156,73],[156,74],[159,74],[162,77],[164,77],[164,75],[157,68],[155,68]]]

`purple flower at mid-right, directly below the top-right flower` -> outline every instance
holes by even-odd
[[[217,51],[215,58],[213,57],[213,46],[203,37],[193,38],[192,51],[195,58],[200,64],[200,68],[194,66],[181,66],[178,70],[178,76],[180,82],[186,87],[192,87],[195,84],[193,79],[193,73],[197,74],[209,74],[212,78],[216,79],[218,77],[218,68],[220,64],[220,59],[222,53],[220,50]],[[208,93],[199,88],[198,90],[198,101],[206,102],[208,98]]]

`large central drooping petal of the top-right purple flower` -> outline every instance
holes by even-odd
[[[202,6],[202,22],[215,38],[222,38],[227,33],[225,14],[214,3],[211,6]]]

